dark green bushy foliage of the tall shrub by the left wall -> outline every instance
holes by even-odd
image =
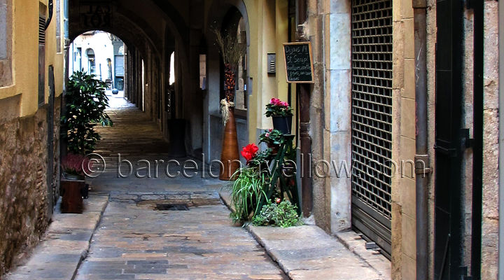
[[[106,97],[106,83],[83,71],[75,71],[69,79],[65,94],[66,113],[62,117],[62,137],[69,151],[85,154],[94,150],[100,139],[94,127],[97,124],[112,126],[112,120],[105,113],[109,106]]]

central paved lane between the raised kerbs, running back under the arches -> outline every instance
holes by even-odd
[[[144,113],[110,98],[114,126],[99,128],[103,139],[96,151],[106,159],[106,174],[91,183],[94,192],[110,193],[111,202],[76,279],[286,279],[250,233],[230,224],[217,193],[222,181],[165,174],[117,178],[118,153],[133,165],[167,160],[167,145]],[[196,206],[157,211],[156,202]]]

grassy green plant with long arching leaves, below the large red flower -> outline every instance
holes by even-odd
[[[259,202],[265,200],[267,174],[257,167],[243,167],[233,174],[231,203],[235,211],[230,214],[234,223],[249,221],[259,211]]]

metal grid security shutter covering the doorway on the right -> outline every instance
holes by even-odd
[[[352,0],[352,221],[390,253],[392,1]]]

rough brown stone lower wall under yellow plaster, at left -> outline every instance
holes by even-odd
[[[59,169],[59,99],[55,104],[55,171]],[[0,99],[0,275],[33,248],[48,226],[47,111],[18,118],[20,96]],[[55,173],[59,174],[59,172]],[[54,200],[59,197],[55,176]]]

